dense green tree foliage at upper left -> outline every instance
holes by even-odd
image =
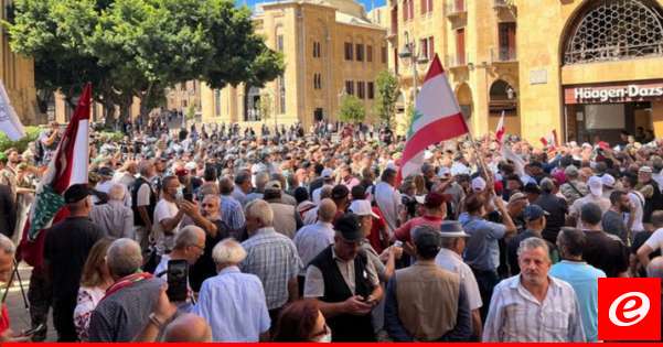
[[[15,0],[14,6],[13,23],[4,23],[11,48],[34,58],[40,95],[60,89],[69,104],[90,82],[97,101],[119,105],[126,113],[138,97],[145,115],[177,83],[261,86],[284,71],[282,56],[254,33],[249,10],[232,0]]]

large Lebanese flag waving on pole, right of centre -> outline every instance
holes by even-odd
[[[397,182],[420,172],[426,148],[468,132],[456,95],[436,54],[415,101]]]

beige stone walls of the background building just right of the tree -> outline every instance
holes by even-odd
[[[340,10],[333,6],[339,4]],[[342,4],[342,6],[341,6]],[[263,7],[255,19],[256,31],[261,33],[270,48],[277,50],[277,37],[282,35],[286,71],[285,112],[280,112],[280,90],[277,80],[267,83],[260,95],[271,99],[271,116],[265,122],[274,126],[301,121],[304,128],[313,123],[316,109],[321,108],[327,119],[335,120],[345,80],[374,82],[387,64],[382,63],[381,48],[386,46],[384,29],[367,23],[363,8],[354,1],[327,4],[309,2],[281,2]],[[338,12],[343,12],[339,14]],[[346,14],[357,15],[357,22],[347,21]],[[313,43],[319,42],[321,56],[313,57]],[[373,61],[345,61],[344,43],[363,43],[373,46]],[[313,88],[313,76],[320,74],[321,88]],[[366,87],[367,88],[367,87]],[[215,115],[214,91],[202,87],[201,104],[204,122],[243,122],[246,86],[222,89],[222,112]],[[366,91],[367,94],[367,91]],[[375,121],[373,100],[364,99],[367,120]],[[261,122],[258,122],[261,123]]]

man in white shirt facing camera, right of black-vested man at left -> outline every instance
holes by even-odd
[[[184,216],[177,204],[180,189],[178,177],[168,176],[163,178],[161,199],[154,207],[154,223],[152,225],[152,236],[157,241],[157,252],[159,254],[172,250],[178,227]]]

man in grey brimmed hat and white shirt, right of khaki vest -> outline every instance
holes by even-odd
[[[472,312],[472,334],[473,337],[481,338],[481,323],[480,308],[483,305],[481,301],[481,293],[479,292],[479,284],[472,269],[462,261],[462,252],[466,249],[466,238],[470,236],[462,229],[462,225],[455,220],[442,221],[440,226],[442,248],[435,258],[435,263],[440,268],[458,273],[460,276],[461,284],[468,295],[468,302],[470,304],[470,311]]]

